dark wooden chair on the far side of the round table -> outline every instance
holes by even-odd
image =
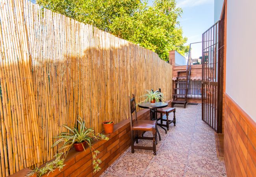
[[[159,92],[161,92],[161,89],[159,88]],[[162,101],[162,100],[160,100]],[[164,108],[160,108],[160,109],[157,109],[156,112],[160,113],[160,118],[158,118],[158,120],[161,121],[161,124],[158,124],[158,125],[161,125],[163,127],[167,127],[167,130],[169,130],[169,125],[171,123],[174,124],[174,126],[176,126],[176,118],[175,118],[175,108],[174,107],[164,107]],[[173,120],[169,121],[169,114],[173,112]],[[163,119],[163,114],[166,115],[166,120]],[[163,121],[166,122],[166,124],[163,124]]]

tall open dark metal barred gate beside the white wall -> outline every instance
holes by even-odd
[[[202,34],[202,120],[222,133],[224,20]]]

